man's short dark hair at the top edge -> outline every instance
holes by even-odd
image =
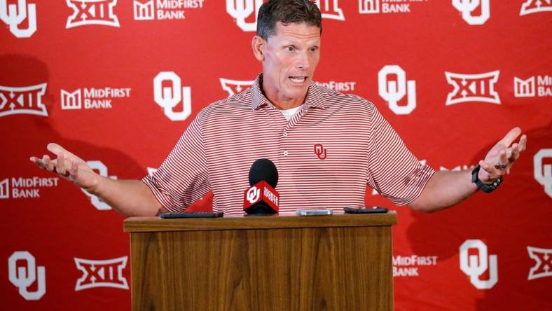
[[[257,35],[268,40],[276,33],[277,22],[285,26],[305,22],[317,26],[322,34],[322,15],[312,0],[269,0],[258,10]]]

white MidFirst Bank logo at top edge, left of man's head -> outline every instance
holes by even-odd
[[[134,0],[134,20],[184,20],[188,8],[203,8],[205,0]]]

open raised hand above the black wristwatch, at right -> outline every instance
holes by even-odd
[[[479,179],[490,182],[499,176],[510,172],[510,167],[518,160],[520,153],[525,150],[527,136],[522,135],[517,143],[513,141],[521,134],[519,127],[514,127],[501,139],[485,156],[485,160],[479,161],[482,170],[479,170]]]

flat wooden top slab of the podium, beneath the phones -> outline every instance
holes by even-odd
[[[333,214],[331,216],[224,216],[200,219],[160,219],[153,217],[129,217],[125,219],[125,232],[244,230],[277,228],[331,228],[392,226],[396,224],[396,212],[385,214]]]

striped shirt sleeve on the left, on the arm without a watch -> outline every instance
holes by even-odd
[[[211,191],[200,117],[196,117],[158,170],[142,181],[170,212],[181,212]]]

